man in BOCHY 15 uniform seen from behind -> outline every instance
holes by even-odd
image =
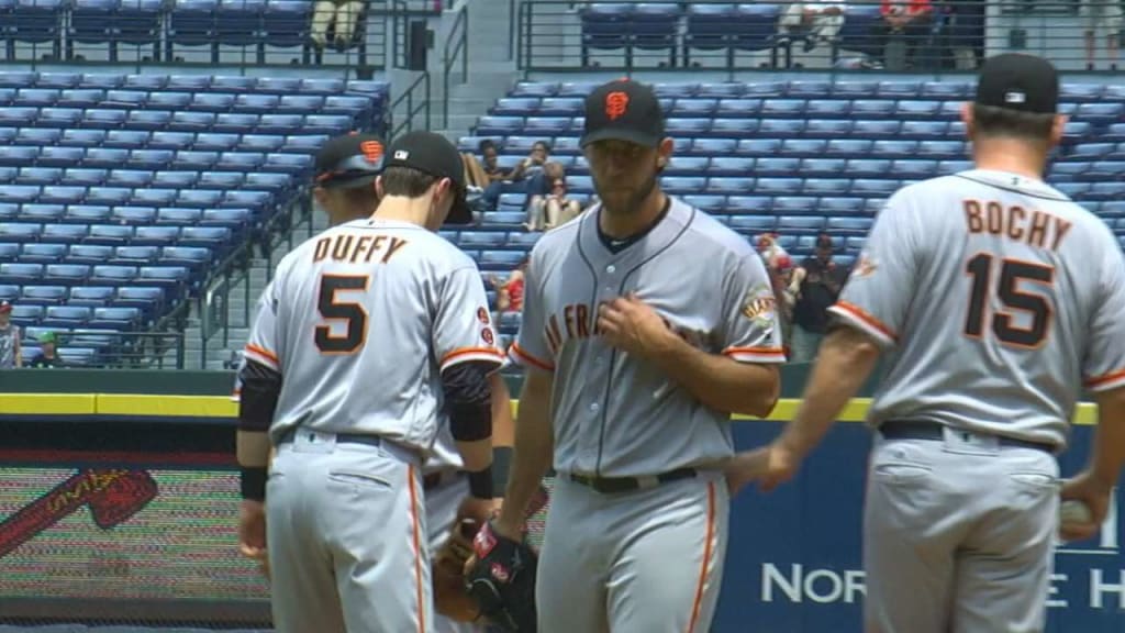
[[[1125,261],[1106,225],[1045,182],[1063,134],[1046,61],[986,62],[963,118],[975,169],[894,194],[830,310],[795,419],[732,481],[783,482],[882,351],[864,514],[866,631],[1043,631],[1059,523],[1055,454],[1084,386],[1086,471],[1061,487],[1097,533],[1125,461]]]

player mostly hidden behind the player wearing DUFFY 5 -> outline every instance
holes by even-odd
[[[348,134],[332,139],[317,153],[313,197],[317,206],[328,216],[331,226],[363,220],[375,212],[379,203],[375,178],[381,171],[382,153],[382,141],[369,134]],[[270,294],[271,289],[267,288],[262,296],[270,296]],[[241,368],[240,366],[240,372]],[[505,462],[503,457],[511,451],[511,448],[504,447],[511,447],[513,442],[512,403],[503,376],[494,373],[489,378],[493,390],[493,442],[497,445],[494,453],[500,462],[494,479],[504,481],[501,479],[505,476],[506,472],[502,467]],[[238,381],[236,373],[233,401],[238,401],[240,392],[241,381]],[[422,488],[429,527],[428,541],[431,553],[440,552],[447,546],[456,523],[460,518],[458,509],[461,501],[469,494],[468,480],[461,470],[462,466],[449,427],[441,425],[438,439],[422,469]],[[249,553],[263,564],[263,571],[269,574],[268,563],[264,560],[266,552],[251,550]],[[484,631],[484,627],[472,623],[458,622],[441,613],[435,613],[433,631],[435,633],[470,633]]]

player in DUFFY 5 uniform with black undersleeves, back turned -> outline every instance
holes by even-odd
[[[493,508],[503,354],[476,265],[434,233],[471,221],[460,157],[406,134],[377,187],[375,215],[281,260],[245,349],[240,541],[250,555],[270,544],[282,633],[434,630],[421,467],[446,411],[471,494],[459,515]]]

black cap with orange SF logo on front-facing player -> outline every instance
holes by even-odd
[[[664,113],[652,88],[618,79],[586,97],[586,124],[582,146],[597,141],[628,141],[656,148],[664,140]]]

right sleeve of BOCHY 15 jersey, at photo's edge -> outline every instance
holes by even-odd
[[[1090,336],[1082,358],[1087,390],[1109,391],[1125,386],[1125,258],[1112,244],[1102,258]]]

